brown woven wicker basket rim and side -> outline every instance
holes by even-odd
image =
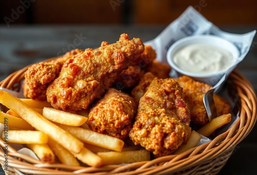
[[[49,59],[50,60],[50,59]],[[24,72],[28,67],[16,71],[0,82],[0,86],[19,91]],[[211,142],[192,148],[180,155],[160,157],[151,161],[126,165],[108,165],[102,167],[77,167],[63,164],[45,164],[39,160],[22,155],[8,147],[7,174],[217,174],[226,164],[235,146],[251,131],[256,122],[256,95],[249,81],[238,71],[233,71],[229,81],[237,89],[240,105],[238,119],[225,133]],[[0,144],[4,147],[4,141]],[[5,161],[3,149],[0,149],[0,161]],[[158,165],[158,166],[157,166]]]

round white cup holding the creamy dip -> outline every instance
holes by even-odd
[[[179,66],[174,62],[174,56],[176,55],[177,52],[179,51],[181,52],[181,49],[192,45],[195,45],[195,46],[204,45],[204,46],[219,48],[221,50],[225,50],[226,52],[228,51],[231,55],[231,60],[229,62],[229,65],[225,69],[214,71],[212,73],[203,73],[203,72],[197,73],[198,64],[201,64],[200,62],[197,62],[196,65],[192,65],[192,67],[195,67],[194,72],[186,70],[185,68],[181,68],[181,65]],[[198,50],[201,50],[201,48],[199,47]],[[236,46],[221,37],[214,36],[214,35],[191,35],[191,36],[179,39],[178,41],[173,43],[173,45],[169,48],[167,52],[167,61],[172,67],[173,73],[175,72],[178,76],[187,75],[197,81],[204,82],[211,86],[214,86],[221,79],[221,77],[229,70],[229,68],[231,68],[234,65],[239,55],[240,54]],[[209,56],[213,57],[213,55],[209,55]],[[192,59],[195,59],[195,58],[196,58],[195,56],[192,57]],[[189,61],[190,60],[188,60],[188,62],[186,61],[187,62],[186,64],[189,64]],[[211,60],[211,61],[215,61],[215,60]]]

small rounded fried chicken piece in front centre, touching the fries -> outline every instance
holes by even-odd
[[[132,128],[136,110],[132,97],[109,88],[103,98],[91,108],[87,124],[95,132],[124,140]]]

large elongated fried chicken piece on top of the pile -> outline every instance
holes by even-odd
[[[129,40],[127,34],[121,34],[116,43],[68,59],[48,86],[47,101],[63,111],[86,109],[143,51],[141,39]]]

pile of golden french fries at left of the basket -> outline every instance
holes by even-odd
[[[150,160],[148,150],[124,146],[118,138],[89,130],[86,116],[55,110],[46,101],[19,99],[1,90],[0,103],[9,108],[6,113],[0,111],[0,122],[8,121],[8,133],[2,132],[2,140],[26,144],[43,162],[54,163],[57,157],[66,165],[98,167]]]

